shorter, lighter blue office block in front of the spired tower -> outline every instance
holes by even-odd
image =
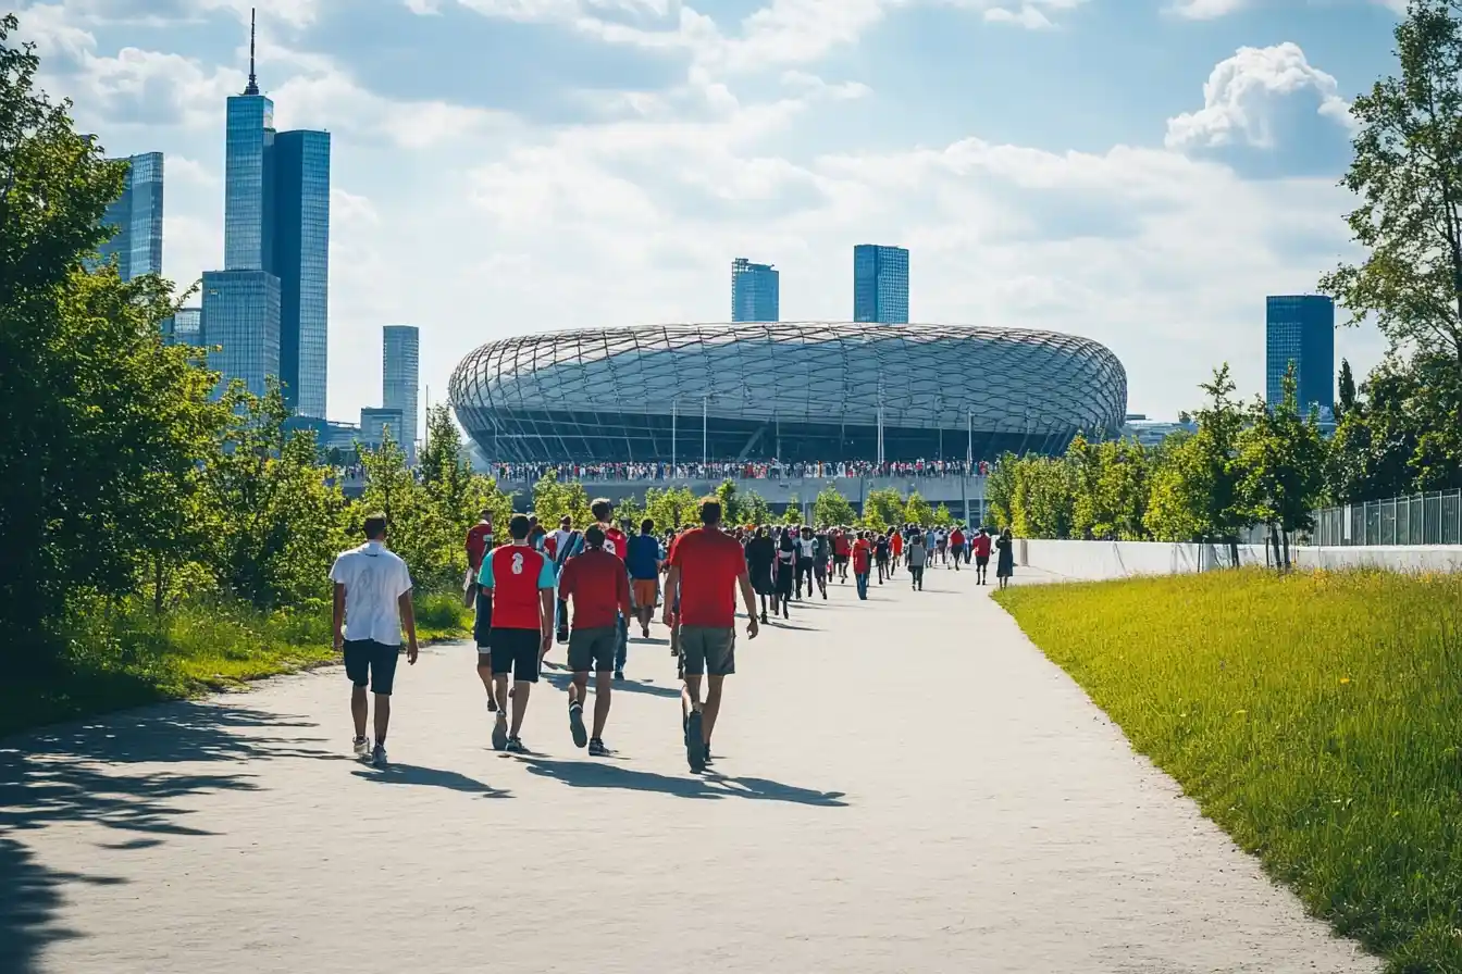
[[[218,394],[241,380],[263,396],[279,375],[279,279],[266,270],[203,272],[203,343],[208,367],[221,372]]]

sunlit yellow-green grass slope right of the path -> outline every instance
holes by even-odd
[[[997,596],[1389,971],[1462,971],[1462,578],[1227,571]]]

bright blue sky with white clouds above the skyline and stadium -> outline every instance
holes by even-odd
[[[1173,418],[1222,362],[1260,393],[1265,295],[1358,256],[1348,108],[1404,0],[257,6],[276,127],[333,140],[332,419],[380,403],[386,324],[442,402],[484,342],[727,321],[734,257],[778,267],[784,320],[848,320],[864,242],[909,248],[911,321],[1088,336]],[[222,264],[249,7],[18,9],[82,130],[167,155],[180,288]]]

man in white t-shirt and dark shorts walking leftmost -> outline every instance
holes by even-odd
[[[366,518],[366,543],[341,552],[330,568],[335,583],[335,648],[345,656],[351,678],[351,717],[355,718],[355,756],[370,756],[386,767],[386,730],[390,727],[390,691],[401,656],[401,629],[406,628],[406,662],[417,664],[417,615],[411,605],[411,572],[386,549],[386,517]],[[376,694],[376,746],[366,737],[370,701]]]

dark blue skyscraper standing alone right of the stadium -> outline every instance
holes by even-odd
[[[1284,374],[1294,362],[1301,410],[1335,409],[1335,301],[1325,295],[1268,299],[1265,400],[1284,399]]]

